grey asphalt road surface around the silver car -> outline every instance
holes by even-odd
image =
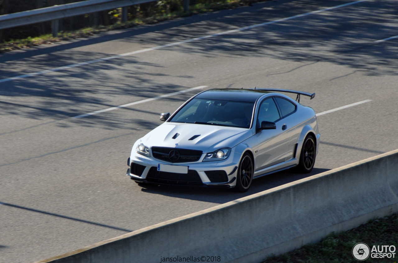
[[[269,1],[0,56],[0,262],[34,262],[397,149],[398,38],[375,42],[398,35],[396,0],[292,17],[348,2]],[[125,175],[159,114],[203,89],[71,118],[204,85],[315,92],[301,103],[317,113],[372,101],[318,117],[311,174],[279,172],[247,193],[142,188]]]

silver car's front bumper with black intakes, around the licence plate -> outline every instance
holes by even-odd
[[[231,152],[228,159],[222,161],[202,162],[202,159],[197,162],[176,164],[134,154],[130,157],[131,168],[127,169],[126,175],[136,182],[150,184],[220,188],[231,188],[236,185],[240,155]],[[158,164],[189,166],[188,174],[159,172],[157,171]],[[219,174],[223,174],[222,180],[220,176],[217,176]]]

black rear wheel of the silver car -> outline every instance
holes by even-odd
[[[312,171],[315,164],[316,144],[312,135],[307,135],[301,147],[300,161],[297,166],[297,171],[303,174],[308,174]]]

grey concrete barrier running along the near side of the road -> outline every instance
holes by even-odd
[[[398,150],[38,263],[158,263],[161,257],[191,262],[202,256],[258,263],[396,213],[397,195]]]

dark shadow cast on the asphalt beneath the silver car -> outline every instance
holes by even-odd
[[[314,168],[309,174],[298,174],[291,170],[285,170],[263,176],[255,179],[252,182],[252,186],[246,193],[237,193],[232,189],[222,188],[201,188],[201,187],[184,187],[184,186],[157,186],[157,185],[144,185],[139,184],[142,187],[142,191],[146,193],[154,193],[158,195],[166,195],[170,197],[177,197],[183,199],[191,199],[196,201],[203,201],[209,203],[226,203],[259,193],[261,191],[269,190],[283,184],[288,184],[303,178],[320,174],[331,169],[325,168]]]

